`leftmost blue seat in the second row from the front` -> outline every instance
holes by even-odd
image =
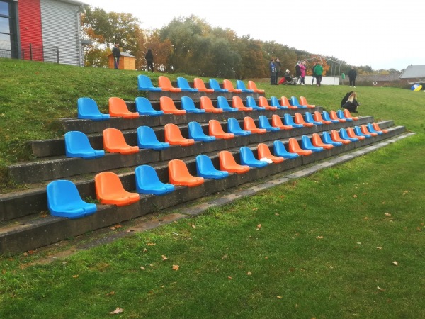
[[[79,131],[69,131],[64,135],[65,154],[67,157],[93,159],[105,156],[104,150],[94,150],[87,135]]]

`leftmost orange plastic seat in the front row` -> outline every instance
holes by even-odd
[[[126,191],[120,177],[113,172],[102,172],[94,177],[96,197],[103,204],[126,206],[140,200],[140,195]]]

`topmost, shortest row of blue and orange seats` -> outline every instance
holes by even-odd
[[[188,83],[188,80],[184,77],[177,78],[177,87],[174,87],[171,84],[171,81],[168,77],[160,76],[158,77],[158,87],[152,84],[152,81],[146,75],[139,75],[137,77],[137,88],[141,91],[170,91],[170,92],[231,92],[231,93],[264,93],[264,90],[258,89],[254,81],[248,81],[248,87],[245,86],[244,82],[241,80],[236,81],[236,89],[234,88],[232,82],[228,79],[223,80],[222,87],[217,82],[216,79],[210,79],[210,87],[207,88],[202,79],[196,77],[193,79],[193,87]]]

